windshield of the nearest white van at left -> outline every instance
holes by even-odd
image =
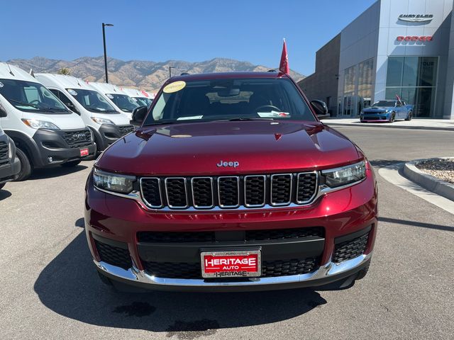
[[[0,79],[0,94],[21,111],[48,114],[71,113],[52,92],[32,81]]]

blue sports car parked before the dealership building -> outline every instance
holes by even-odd
[[[406,105],[402,99],[395,101],[376,101],[369,108],[362,109],[360,113],[361,123],[366,122],[389,122],[394,120],[411,120],[413,118],[413,106]]]

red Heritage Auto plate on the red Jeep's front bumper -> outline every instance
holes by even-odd
[[[250,278],[262,275],[260,250],[202,251],[201,276],[204,278]]]

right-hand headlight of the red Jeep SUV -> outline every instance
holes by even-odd
[[[322,170],[321,174],[325,176],[326,186],[337,188],[365,179],[366,164],[364,161],[361,161],[356,164],[342,166],[336,169]]]

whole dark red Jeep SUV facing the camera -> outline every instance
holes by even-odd
[[[231,291],[365,276],[375,175],[323,112],[277,72],[169,79],[89,175],[85,225],[102,280]]]

